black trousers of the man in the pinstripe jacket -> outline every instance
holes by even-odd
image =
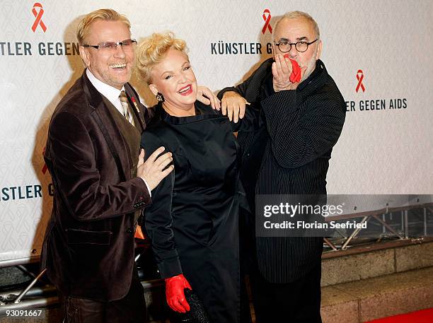
[[[321,323],[321,264],[298,281],[270,283],[250,272],[256,323]]]

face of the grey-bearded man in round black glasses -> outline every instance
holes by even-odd
[[[279,21],[275,30],[274,40],[279,43],[287,41],[295,43],[299,41],[313,42],[317,39],[313,25],[304,17],[283,18]],[[274,54],[289,54],[289,58],[298,62],[299,67],[307,66],[306,72],[301,81],[304,81],[316,68],[316,60],[321,57],[322,41],[318,40],[308,46],[306,52],[298,52],[295,45],[287,53],[279,50],[278,46],[273,45]]]

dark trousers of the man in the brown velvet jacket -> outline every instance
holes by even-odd
[[[120,300],[99,302],[85,298],[61,296],[64,323],[144,323],[146,303],[144,289],[134,268],[127,295]]]

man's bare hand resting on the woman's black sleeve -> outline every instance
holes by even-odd
[[[166,170],[168,164],[173,161],[171,153],[163,153],[164,147],[159,147],[152,153],[146,161],[144,161],[144,149],[139,155],[139,163],[137,165],[137,176],[142,177],[143,180],[149,185],[149,188],[154,189],[164,177],[171,173],[174,169],[173,165],[170,165]]]

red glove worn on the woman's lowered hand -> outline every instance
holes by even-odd
[[[166,278],[167,304],[175,312],[185,313],[190,310],[190,305],[187,303],[183,292],[185,288],[192,290],[183,274]]]

